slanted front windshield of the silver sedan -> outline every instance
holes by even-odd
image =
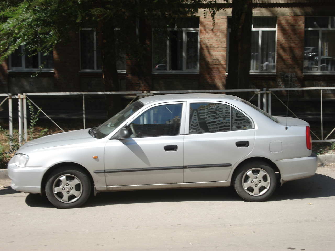
[[[129,118],[134,112],[138,111],[141,107],[143,107],[143,103],[140,101],[136,101],[131,105],[124,108],[119,113],[115,114],[113,117],[108,119],[105,123],[100,124],[95,130],[93,137],[102,139],[109,135],[111,132],[115,130],[120,124]]]

